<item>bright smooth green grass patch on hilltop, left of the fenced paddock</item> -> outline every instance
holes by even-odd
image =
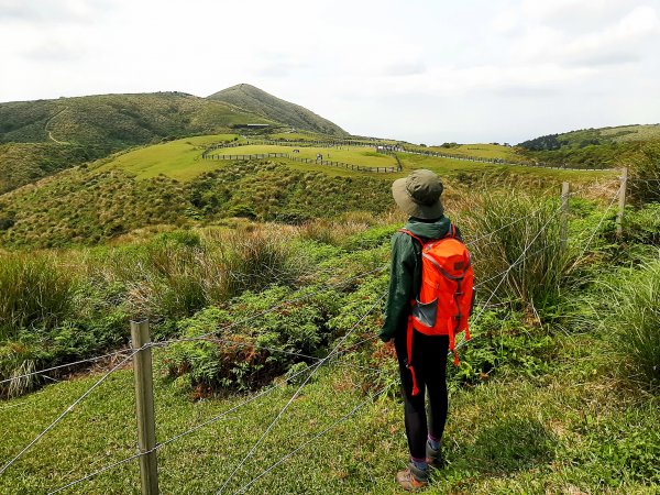
[[[201,153],[206,147],[220,141],[232,141],[234,138],[238,135],[215,134],[146,146],[121,154],[99,169],[121,168],[134,174],[138,179],[163,174],[176,180],[189,182],[220,166],[217,162],[201,160]]]

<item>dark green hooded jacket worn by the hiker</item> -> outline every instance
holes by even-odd
[[[405,229],[415,235],[440,239],[447,234],[451,222],[447,217],[437,220],[410,218]],[[457,229],[457,235],[460,235]],[[396,232],[392,237],[392,267],[389,272],[389,294],[385,306],[385,322],[378,333],[387,342],[399,331],[405,331],[410,314],[410,300],[419,294],[421,286],[421,246],[410,235]]]

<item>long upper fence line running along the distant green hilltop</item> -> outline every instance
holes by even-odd
[[[248,146],[248,145],[273,145],[273,146],[297,146],[297,147],[338,147],[338,146],[360,146],[360,147],[373,147],[377,153],[387,154],[394,156],[397,162],[398,170],[403,170],[403,163],[397,156],[396,153],[406,153],[413,155],[422,155],[422,156],[433,156],[438,158],[449,158],[449,160],[459,160],[462,162],[474,162],[474,163],[490,163],[494,165],[513,165],[513,166],[522,166],[522,167],[537,167],[537,168],[551,168],[558,170],[576,170],[576,172],[607,172],[613,170],[614,168],[601,167],[601,168],[578,168],[570,167],[565,164],[554,165],[549,163],[538,163],[538,162],[513,162],[506,161],[504,158],[485,158],[481,156],[471,156],[471,155],[461,155],[461,154],[452,154],[452,153],[441,153],[430,150],[406,150],[403,145],[397,144],[393,145],[389,143],[380,143],[373,142],[367,143],[364,141],[351,141],[351,140],[342,140],[342,141],[278,141],[278,140],[248,140],[245,142],[232,142],[232,143],[218,143],[215,144],[202,153],[202,158],[207,158],[207,155],[219,148],[227,147],[239,147],[239,146]],[[289,157],[293,160],[293,157]],[[229,160],[229,158],[227,158]],[[364,167],[363,167],[364,168]],[[374,168],[374,167],[371,167]],[[383,168],[383,167],[376,167]]]

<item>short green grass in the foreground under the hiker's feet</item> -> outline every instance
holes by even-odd
[[[660,472],[644,460],[660,452],[660,404],[618,381],[602,361],[602,346],[597,337],[566,338],[549,374],[510,376],[453,391],[446,433],[449,464],[422,493],[657,493],[653,483]],[[354,416],[301,448],[246,493],[400,493],[393,481],[406,462],[399,399],[369,400],[353,385],[360,383],[356,372],[346,370],[328,369],[305,388],[226,493],[237,493],[365,399]],[[394,372],[391,375],[394,380]],[[51,385],[1,404],[0,424],[12,428],[2,433],[0,459],[15,454],[99,377]],[[46,493],[132,455],[132,388],[131,371],[112,375],[0,476],[0,493]],[[162,492],[216,493],[296,388],[283,385],[161,449]],[[396,395],[395,388],[391,392]],[[161,442],[246,398],[191,403],[161,374],[155,394]],[[138,481],[138,463],[132,461],[66,493],[134,493]]]

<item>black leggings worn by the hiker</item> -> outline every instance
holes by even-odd
[[[430,433],[440,440],[447,422],[447,353],[449,337],[429,337],[417,331],[413,337],[413,367],[419,393],[413,397],[413,375],[406,367],[408,351],[406,332],[402,331],[394,341],[399,362],[399,373],[404,388],[406,436],[410,457],[426,458],[426,441]],[[429,421],[425,407],[426,391],[429,394]]]

